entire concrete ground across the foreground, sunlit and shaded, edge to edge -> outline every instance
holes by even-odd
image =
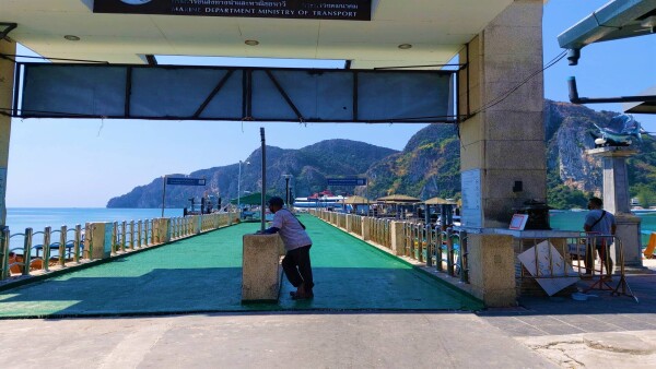
[[[524,298],[517,308],[478,312],[309,309],[0,320],[0,367],[654,368],[656,262],[645,265],[628,277],[640,303],[591,290],[596,296],[587,301]],[[366,286],[349,293],[366,299]]]

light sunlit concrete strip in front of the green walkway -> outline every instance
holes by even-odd
[[[2,368],[555,368],[471,313],[0,322]]]

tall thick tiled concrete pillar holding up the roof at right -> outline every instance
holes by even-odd
[[[515,0],[460,52],[458,112],[471,116],[460,124],[465,226],[506,228],[513,207],[547,199],[542,75],[506,95],[542,68],[542,8]]]

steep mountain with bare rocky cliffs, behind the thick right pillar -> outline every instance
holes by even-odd
[[[595,111],[569,103],[544,102],[548,202],[557,209],[585,207],[601,193],[601,163],[585,154],[595,146],[595,123],[606,127],[614,111]],[[643,134],[639,154],[629,159],[631,195],[643,206],[656,205],[656,140]],[[368,171],[370,195],[405,193],[421,199],[458,198],[460,147],[456,128],[434,124],[419,131],[401,153]]]

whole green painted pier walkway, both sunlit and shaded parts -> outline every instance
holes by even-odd
[[[0,318],[272,310],[477,310],[443,282],[312,216],[303,216],[315,298],[241,303],[242,224],[0,294]]]

